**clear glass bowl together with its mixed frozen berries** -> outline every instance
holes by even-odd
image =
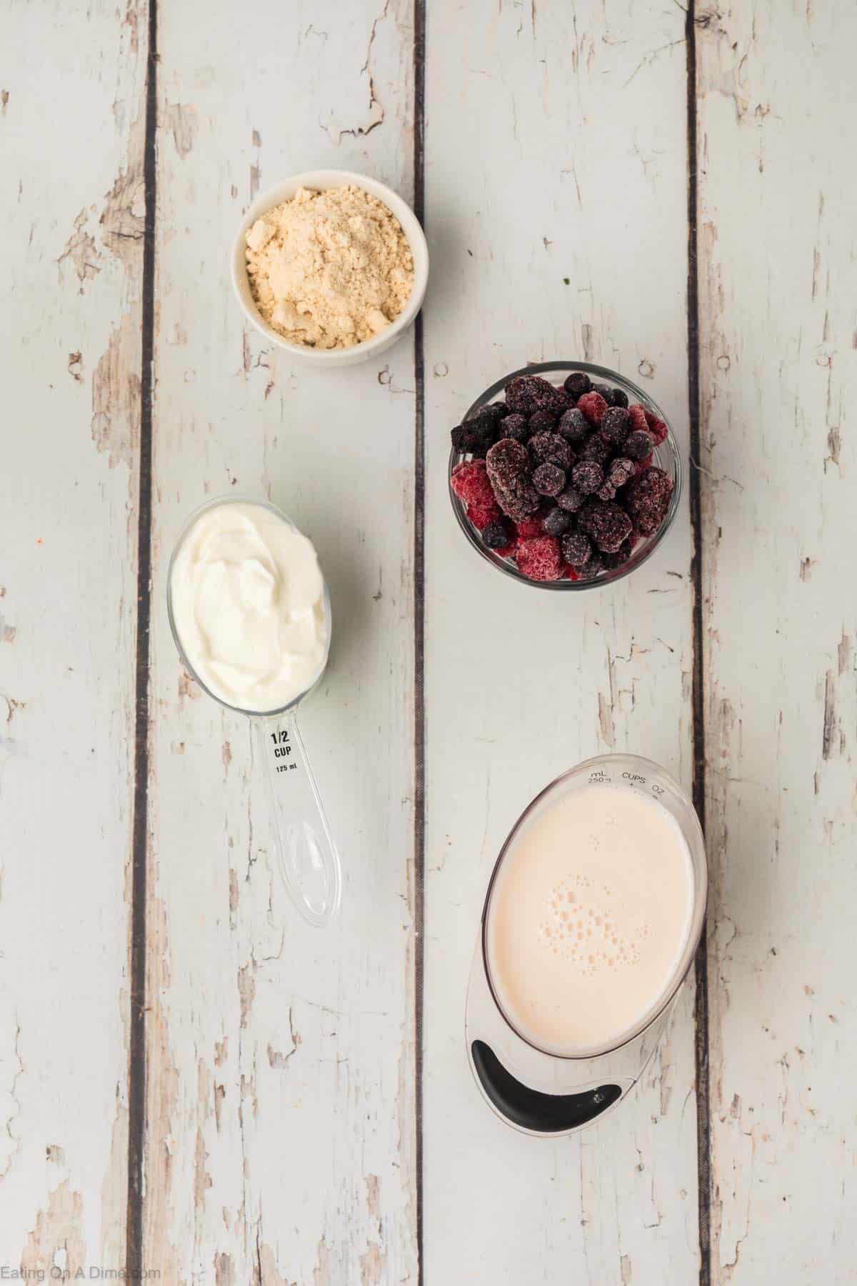
[[[541,589],[627,576],[667,534],[681,457],[660,408],[586,361],[499,379],[452,430],[450,498],[473,548]]]

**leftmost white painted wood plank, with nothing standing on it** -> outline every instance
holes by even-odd
[[[4,15],[5,1271],[89,1276],[125,1254],[140,21],[102,3]]]

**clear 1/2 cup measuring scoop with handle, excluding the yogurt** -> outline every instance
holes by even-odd
[[[330,653],[333,617],[330,594],[324,581],[324,607],[326,640],[324,660],[312,685],[288,705],[275,710],[245,710],[230,705],[211,691],[188,658],[181,642],[172,602],[173,568],[185,540],[199,518],[212,509],[231,504],[254,505],[299,530],[281,509],[267,500],[253,496],[229,495],[206,502],[184,523],[170,558],[167,571],[167,612],[170,629],[182,665],[213,701],[226,710],[247,715],[253,728],[256,745],[265,765],[269,799],[274,820],[278,864],[292,901],[303,918],[317,928],[329,925],[339,910],[342,896],[342,867],[339,854],[330,835],[319,787],[307,757],[297,721],[298,706],[321,682]],[[324,576],[322,576],[324,580]]]

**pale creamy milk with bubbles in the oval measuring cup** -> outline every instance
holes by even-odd
[[[537,810],[488,907],[488,975],[506,1019],[547,1053],[621,1044],[675,986],[693,903],[690,851],[654,797],[588,784]]]

